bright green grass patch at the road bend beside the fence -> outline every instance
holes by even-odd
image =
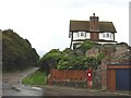
[[[31,86],[44,86],[47,83],[47,75],[41,71],[36,71],[23,78],[22,83]]]

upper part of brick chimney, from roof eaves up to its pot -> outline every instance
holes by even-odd
[[[93,16],[90,16],[90,30],[91,32],[99,30],[98,16],[95,16],[95,13],[93,13]]]

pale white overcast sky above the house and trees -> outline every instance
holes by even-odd
[[[43,56],[70,46],[70,20],[111,21],[116,40],[129,42],[130,0],[0,0],[0,29],[11,28]]]

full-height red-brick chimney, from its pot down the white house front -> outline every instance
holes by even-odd
[[[90,16],[90,30],[91,30],[91,40],[98,40],[99,39],[99,24],[98,24],[98,16]]]

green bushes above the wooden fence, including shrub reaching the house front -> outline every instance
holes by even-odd
[[[60,51],[52,49],[46,53],[39,61],[40,70],[49,73],[50,69],[58,70],[87,70],[88,68],[97,69],[104,58],[103,53],[97,57],[86,57],[85,51],[94,46],[91,41],[83,42],[78,49],[69,48]]]

